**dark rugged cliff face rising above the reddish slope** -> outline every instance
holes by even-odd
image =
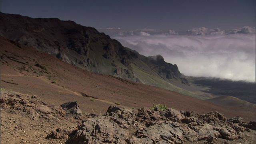
[[[139,68],[166,82],[188,84],[178,66],[162,56],[142,56],[95,28],[72,21],[0,13],[0,35],[91,72],[152,84],[136,76],[134,68]]]

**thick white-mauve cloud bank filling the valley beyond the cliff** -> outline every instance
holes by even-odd
[[[218,31],[218,30],[216,30]],[[255,82],[255,34],[113,37],[145,56],[160,54],[186,76]]]

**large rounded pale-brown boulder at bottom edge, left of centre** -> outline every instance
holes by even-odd
[[[108,116],[88,118],[72,137],[73,144],[124,144],[128,140],[129,131],[121,128]]]

